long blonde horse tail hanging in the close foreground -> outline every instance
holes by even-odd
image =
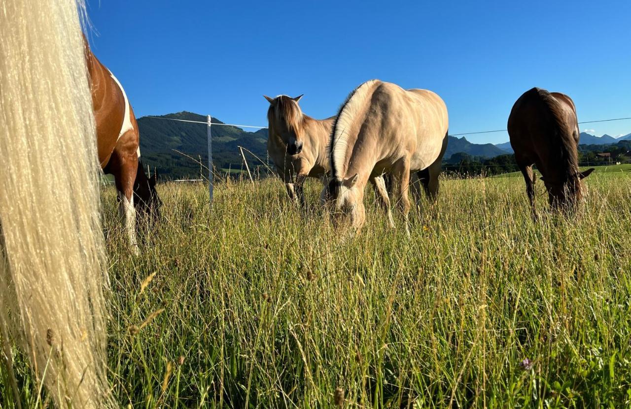
[[[75,0],[0,8],[0,338],[58,407],[96,408],[114,404],[84,15]]]

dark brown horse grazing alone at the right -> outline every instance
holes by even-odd
[[[594,168],[579,171],[579,125],[574,101],[562,93],[533,88],[510,111],[510,146],[526,180],[526,193],[536,219],[533,164],[541,172],[554,209],[572,210],[581,199],[581,179]]]

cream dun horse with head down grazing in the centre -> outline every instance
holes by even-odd
[[[432,91],[406,91],[376,79],[361,84],[348,95],[333,125],[332,177],[323,194],[358,231],[366,218],[366,181],[389,173],[398,182],[396,193],[410,236],[410,172],[418,171],[425,193],[433,200],[447,149],[447,127],[447,107]]]

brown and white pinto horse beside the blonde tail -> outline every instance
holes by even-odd
[[[85,39],[84,39],[85,40]],[[137,250],[136,207],[139,216],[157,216],[160,199],[156,178],[144,174],[140,162],[139,133],[134,111],[114,74],[92,54],[85,42],[94,117],[97,122],[98,161],[104,173],[114,175],[119,214],[129,239]]]

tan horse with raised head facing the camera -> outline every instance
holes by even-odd
[[[326,180],[326,173],[331,170],[329,144],[335,117],[318,120],[305,115],[298,105],[302,95],[295,98],[287,95],[264,97],[269,101],[269,157],[285,182],[290,199],[304,205],[305,178]],[[384,178],[378,175],[370,181],[380,204],[389,206]],[[393,223],[390,214],[389,220]]]

